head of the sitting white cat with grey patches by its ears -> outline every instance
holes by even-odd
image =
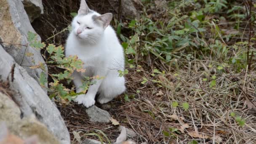
[[[90,10],[85,0],[81,0],[78,14],[72,21],[72,32],[78,40],[94,44],[103,36],[111,19],[112,13],[100,15]]]

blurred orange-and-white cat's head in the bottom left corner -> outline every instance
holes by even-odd
[[[37,144],[37,136],[30,136],[22,140],[18,136],[9,133],[6,123],[0,124],[0,144]]]

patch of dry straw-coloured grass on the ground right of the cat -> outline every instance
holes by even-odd
[[[186,128],[184,133],[173,133],[170,139],[173,143],[191,141],[192,138],[197,140],[201,138],[201,142],[209,144],[220,140],[213,137],[220,137],[224,143],[256,142],[256,73],[220,74],[216,79],[216,88],[212,89],[209,88],[208,82],[202,81],[205,73],[216,71],[216,68],[207,67],[209,61],[177,60],[179,64],[184,64],[179,71],[166,66],[166,68],[162,67],[167,73],[166,79],[161,75],[158,76],[168,88],[160,88],[151,82],[141,85],[141,81],[135,85],[136,82],[133,80],[150,77],[150,69],[145,69],[146,72],[143,74],[130,72],[128,87],[134,90],[140,89],[141,93],[133,102],[126,104],[128,107],[125,107],[118,116],[125,117],[130,127],[136,125],[135,130],[148,139],[150,144],[164,141],[168,143],[168,137],[163,139],[163,134],[158,132],[168,131],[170,127],[182,129],[181,127],[186,124],[189,128]],[[173,76],[176,73],[179,75]],[[251,99],[253,104],[247,99]],[[173,108],[173,101],[178,101],[180,105],[188,102],[189,109],[185,111],[183,108]],[[151,111],[154,117],[143,112],[145,110]],[[246,125],[244,127],[237,125],[234,118],[230,117],[230,112],[236,112],[244,117]]]

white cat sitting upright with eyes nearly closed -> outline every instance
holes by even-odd
[[[85,73],[74,72],[74,84],[77,92],[81,92],[83,76],[104,77],[95,80],[96,84],[88,88],[86,94],[77,96],[75,101],[85,107],[98,101],[107,103],[125,91],[125,78],[119,77],[118,70],[124,69],[123,47],[109,25],[112,13],[103,15],[88,8],[85,0],[81,0],[78,15],[72,21],[72,31],[66,43],[66,56],[77,55],[84,62]]]

